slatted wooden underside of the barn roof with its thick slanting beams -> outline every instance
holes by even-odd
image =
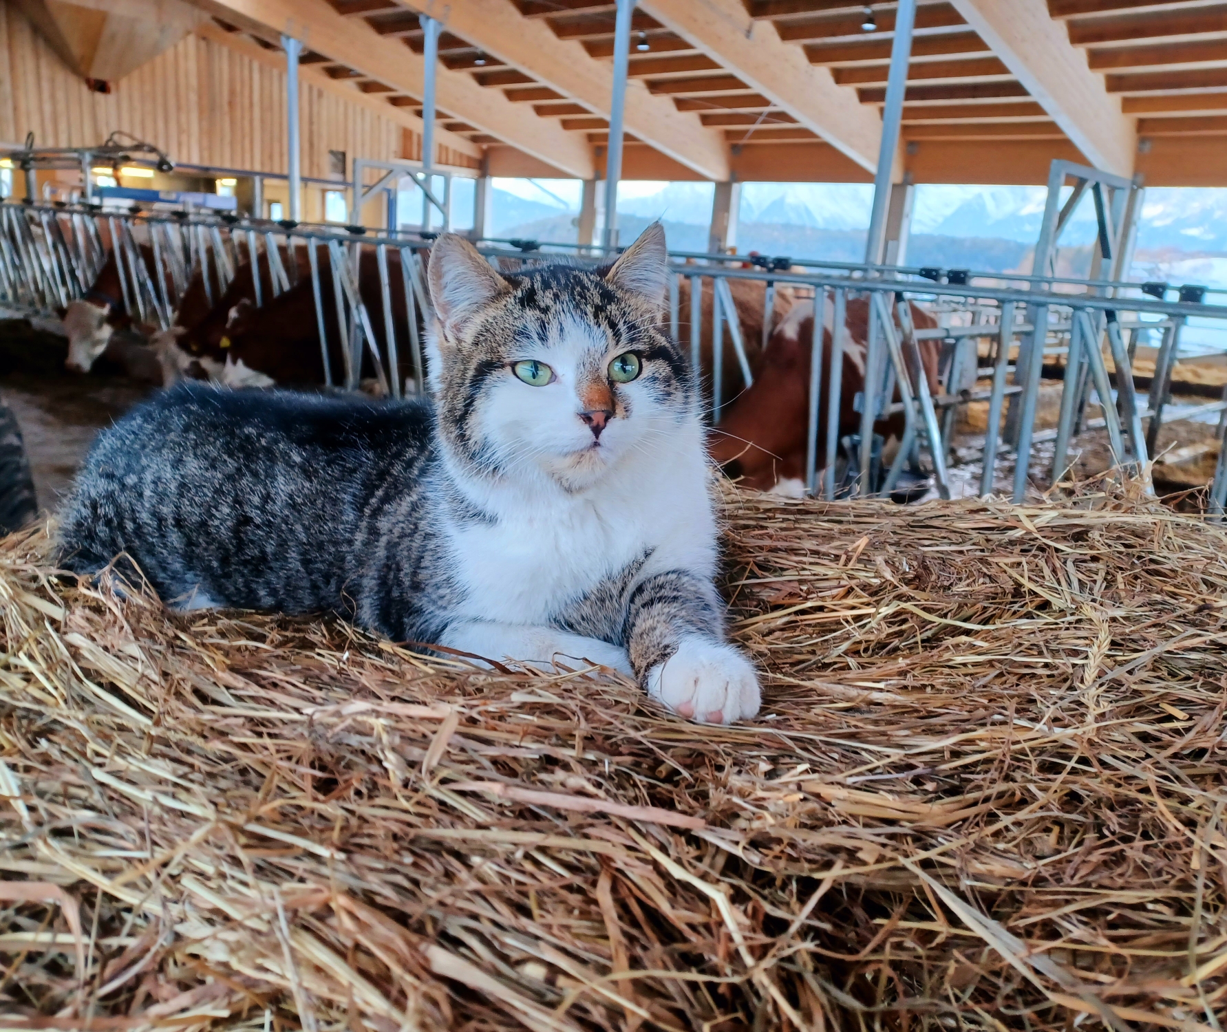
[[[270,6],[207,10],[269,43]],[[361,28],[420,63],[425,6],[303,5],[304,60],[420,113],[420,76],[382,74],[352,48]],[[865,5],[845,0],[640,0],[625,175],[870,179],[896,6],[872,4],[867,32]],[[493,174],[600,175],[614,18],[591,0],[450,0],[438,124],[488,148]],[[1044,182],[1066,157],[1152,184],[1227,185],[1225,144],[1227,2],[919,2],[898,156],[915,182]]]

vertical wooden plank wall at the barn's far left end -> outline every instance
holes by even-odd
[[[0,142],[81,147],[123,129],[175,162],[281,173],[286,166],[285,72],[188,36],[178,45],[94,93],[0,0]],[[303,175],[329,178],[330,150],[387,161],[417,157],[416,133],[303,83]],[[459,156],[456,156],[459,157]],[[463,163],[472,163],[463,160]]]

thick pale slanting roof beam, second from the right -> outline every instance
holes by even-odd
[[[752,91],[793,115],[865,169],[877,166],[882,119],[856,94],[784,43],[771,22],[751,22],[740,0],[639,0],[639,6]]]

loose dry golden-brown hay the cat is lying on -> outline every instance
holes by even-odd
[[[0,1009],[1218,1028],[1227,534],[1107,495],[729,519],[768,671],[736,728],[336,622],[168,617],[9,539]]]

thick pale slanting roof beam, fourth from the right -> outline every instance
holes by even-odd
[[[425,65],[404,43],[379,36],[361,18],[339,15],[324,0],[191,0],[210,15],[259,36],[292,34],[319,54],[411,97],[422,96]],[[568,175],[595,174],[591,148],[530,107],[483,90],[466,72],[436,70],[442,110],[547,162]],[[442,142],[442,140],[440,140]]]

